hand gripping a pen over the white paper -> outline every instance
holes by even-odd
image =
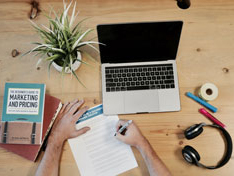
[[[140,129],[137,127],[137,125],[132,122],[128,127],[125,132],[125,134],[120,134],[118,133],[118,130],[121,126],[123,126],[128,120],[119,120],[119,122],[116,125],[116,138],[119,139],[120,141],[129,144],[134,147],[141,147],[141,145],[144,144],[146,141],[145,137],[142,135]]]

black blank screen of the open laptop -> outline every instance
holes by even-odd
[[[164,61],[176,58],[182,21],[97,26],[102,63]]]

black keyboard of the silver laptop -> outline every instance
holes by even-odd
[[[106,67],[106,92],[175,88],[172,64]]]

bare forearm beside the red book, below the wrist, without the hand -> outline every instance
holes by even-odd
[[[58,175],[62,148],[63,141],[58,141],[50,136],[46,151],[36,171],[36,176]]]

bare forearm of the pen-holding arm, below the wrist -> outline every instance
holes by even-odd
[[[137,149],[140,151],[151,176],[171,176],[170,171],[161,161],[147,139],[141,142]]]

